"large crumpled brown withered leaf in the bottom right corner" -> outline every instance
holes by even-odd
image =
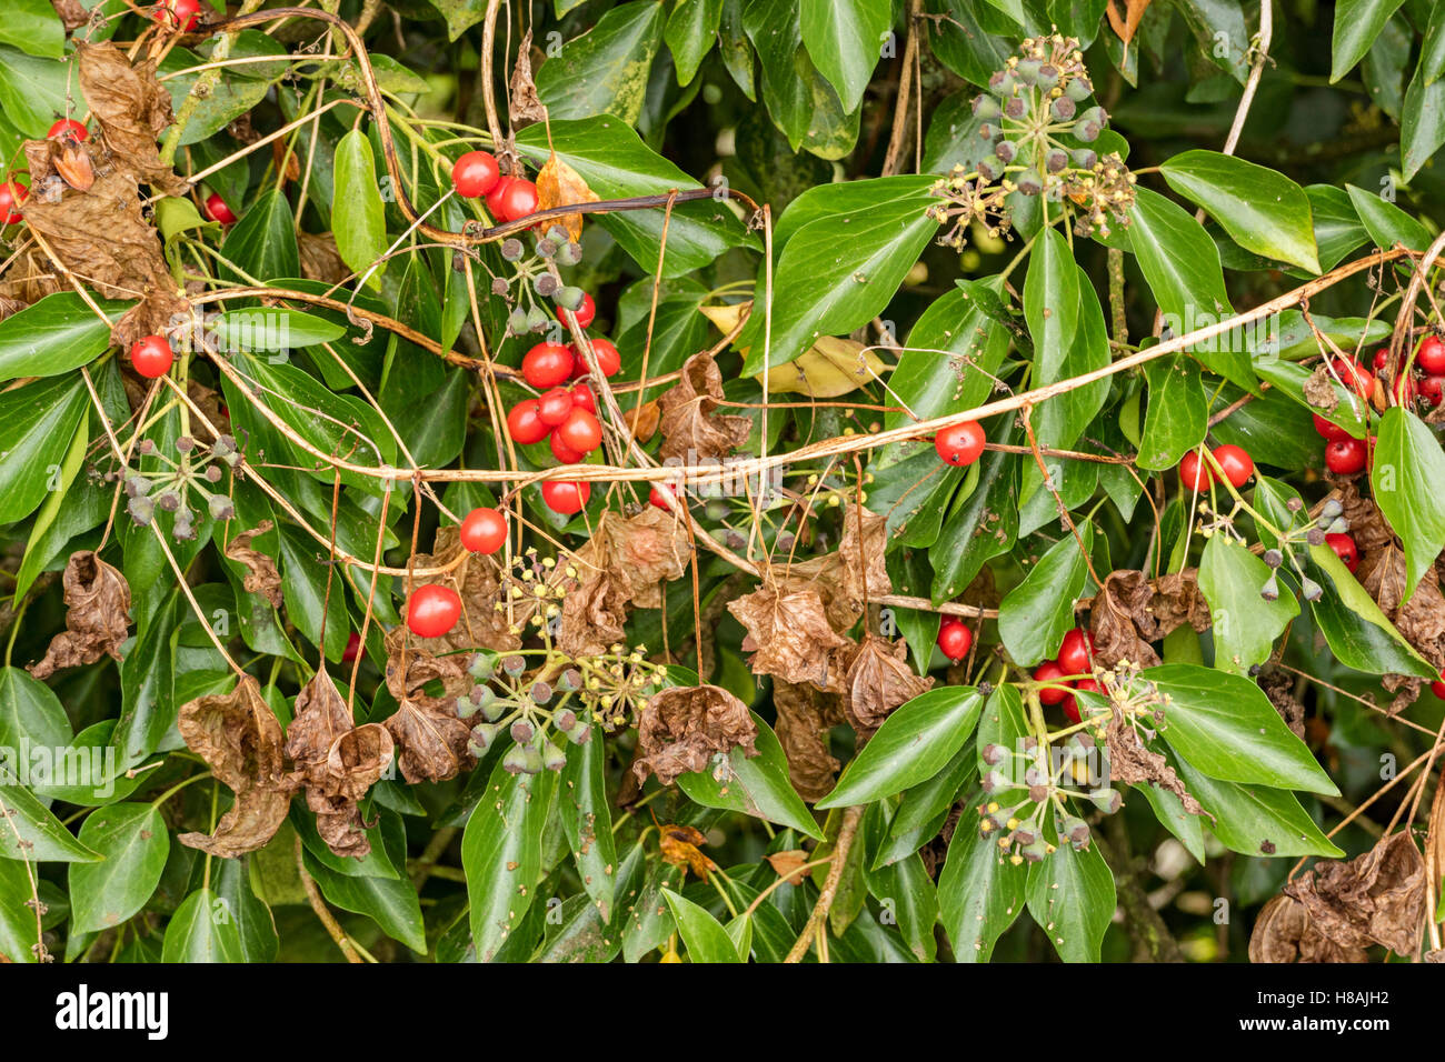
[[[1353,860],[1321,860],[1285,886],[1314,926],[1340,948],[1381,944],[1397,955],[1419,951],[1425,932],[1425,860],[1409,831],[1379,841]]]

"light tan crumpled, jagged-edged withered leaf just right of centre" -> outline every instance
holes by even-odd
[[[828,624],[815,588],[779,592],[764,585],[728,601],[727,608],[747,629],[743,649],[753,650],[749,663],[754,675],[811,682],[819,689],[838,686],[841,676],[829,668],[829,652],[851,643]]]

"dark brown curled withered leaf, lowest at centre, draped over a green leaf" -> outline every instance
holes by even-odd
[[[714,753],[741,748],[757,756],[757,724],[747,705],[721,686],[669,686],[647,701],[637,720],[633,761],[637,780],[647,773],[668,786],[679,774],[705,770]]]

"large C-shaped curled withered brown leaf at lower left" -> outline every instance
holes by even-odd
[[[230,694],[181,705],[176,728],[186,747],[236,793],[215,832],[176,839],[223,860],[263,848],[285,821],[298,779],[286,773],[280,722],[256,679],[246,675]]]

